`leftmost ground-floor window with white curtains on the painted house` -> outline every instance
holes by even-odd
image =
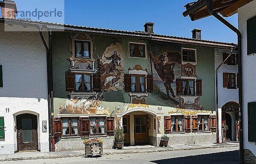
[[[78,135],[78,119],[62,119],[62,135],[77,136]]]

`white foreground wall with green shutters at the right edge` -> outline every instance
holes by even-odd
[[[243,131],[244,149],[250,149],[256,156],[254,142],[248,142],[247,103],[256,102],[256,56],[247,56],[247,20],[256,15],[256,0],[239,8],[238,27],[242,34],[242,78],[243,78]]]

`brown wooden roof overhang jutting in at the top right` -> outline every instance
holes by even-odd
[[[237,13],[237,9],[250,3],[253,0],[212,0],[212,10],[220,13],[223,17],[230,17]],[[208,12],[206,0],[197,0],[187,3],[184,7],[186,11],[182,14],[188,16],[192,21],[208,17],[211,14]]]

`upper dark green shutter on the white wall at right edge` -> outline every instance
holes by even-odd
[[[256,16],[247,20],[247,55],[256,53]]]

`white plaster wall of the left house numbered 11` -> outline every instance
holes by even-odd
[[[3,65],[3,88],[0,88],[0,116],[4,117],[5,139],[0,139],[0,154],[17,150],[16,116],[33,113],[38,116],[38,149],[49,151],[49,133],[42,132],[47,120],[47,62],[46,50],[36,28],[9,27],[17,32],[4,31],[0,23],[0,65]],[[18,32],[19,31],[19,32]],[[48,40],[48,34],[44,33]],[[9,112],[6,113],[6,108]],[[2,147],[3,146],[3,147]]]

